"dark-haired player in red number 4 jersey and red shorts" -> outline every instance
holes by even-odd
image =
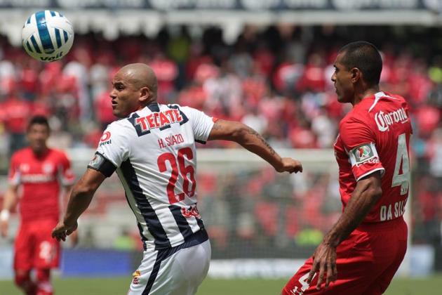
[[[337,100],[353,105],[335,142],[343,211],[284,295],[382,294],[406,253],[408,105],[380,91],[382,59],[373,44],[347,44],[334,67]]]

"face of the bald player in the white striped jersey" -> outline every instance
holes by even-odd
[[[128,117],[140,107],[140,89],[129,82],[128,74],[117,72],[112,80],[112,113],[115,117]]]

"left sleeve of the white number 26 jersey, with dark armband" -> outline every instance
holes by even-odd
[[[103,132],[98,148],[88,168],[101,172],[106,177],[114,173],[129,157],[130,131],[120,124],[110,124]]]

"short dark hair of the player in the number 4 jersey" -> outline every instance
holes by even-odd
[[[347,67],[347,70],[357,67],[367,84],[370,86],[379,84],[382,57],[376,46],[367,41],[356,41],[342,47],[339,53],[344,53],[341,63]]]

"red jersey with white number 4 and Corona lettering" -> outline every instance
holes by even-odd
[[[408,105],[382,91],[363,98],[340,122],[335,142],[343,208],[356,182],[375,171],[382,175],[382,197],[363,222],[389,221],[405,210],[410,176]]]

